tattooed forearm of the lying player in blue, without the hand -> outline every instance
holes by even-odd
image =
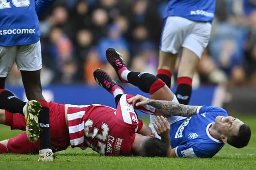
[[[148,105],[156,107],[161,111],[164,116],[177,115],[190,117],[196,114],[196,109],[198,106],[188,106],[183,104],[177,104],[172,101],[166,100],[148,100]]]

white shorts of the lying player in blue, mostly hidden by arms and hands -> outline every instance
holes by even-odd
[[[174,98],[173,98],[172,102],[174,102],[174,103],[179,103],[179,102],[178,102],[178,99],[176,98],[175,95],[174,95]],[[157,134],[156,129],[155,129],[154,126],[153,126],[154,118],[156,118],[155,115],[150,115],[150,125],[149,125],[149,127],[150,127],[150,129],[152,130],[152,132],[156,133],[156,137],[157,137],[158,139],[161,139],[161,137]],[[187,119],[187,118],[188,118],[188,117],[183,117],[183,116],[171,116],[171,117],[168,117],[168,118],[167,118],[167,121],[168,121],[170,124],[172,124],[172,123],[175,123],[175,122],[177,122],[177,121],[180,121],[180,120],[183,120],[183,119]],[[171,128],[172,128],[172,127],[171,127]]]

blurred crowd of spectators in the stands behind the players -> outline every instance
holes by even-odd
[[[130,70],[156,74],[167,4],[168,0],[56,0],[40,18],[42,85],[95,84],[96,68],[115,79],[106,61],[108,47],[120,51]],[[22,84],[15,65],[6,84]],[[201,84],[256,86],[256,0],[216,0],[210,42],[193,78],[193,87]]]

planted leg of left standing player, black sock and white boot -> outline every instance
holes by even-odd
[[[38,122],[41,128],[38,161],[53,161],[54,155],[52,153],[52,145],[50,142],[49,106],[42,95],[40,70],[21,71],[21,75],[28,100],[38,100],[42,105],[38,117]]]

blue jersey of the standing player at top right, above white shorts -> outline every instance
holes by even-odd
[[[215,6],[215,0],[170,0],[164,18],[180,16],[192,21],[212,23]]]

